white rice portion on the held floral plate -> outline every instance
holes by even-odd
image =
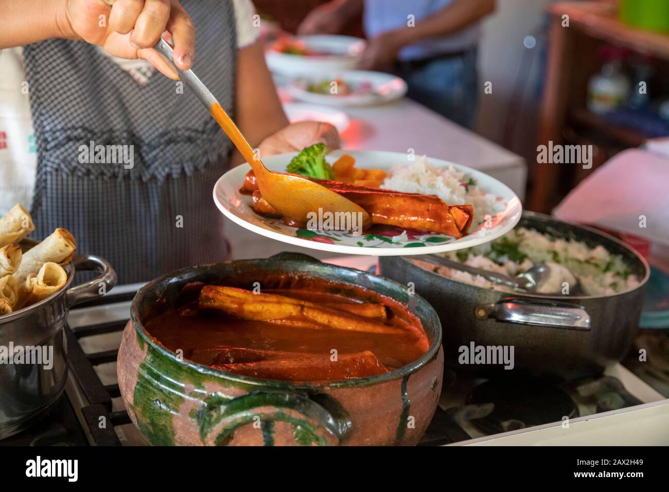
[[[496,195],[485,193],[471,177],[460,173],[453,165],[436,166],[427,157],[419,157],[411,165],[397,165],[390,169],[381,183],[382,188],[405,193],[437,195],[448,205],[474,206],[474,231],[486,220],[502,212],[505,203]]]

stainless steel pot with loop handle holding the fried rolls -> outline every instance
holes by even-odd
[[[15,313],[0,316],[0,347],[31,348],[46,358],[0,363],[0,439],[9,437],[49,412],[58,402],[68,375],[63,327],[70,307],[100,296],[116,284],[112,266],[99,256],[75,256],[65,267],[68,281],[58,293]],[[100,276],[70,287],[76,271]],[[103,291],[104,292],[104,291]]]

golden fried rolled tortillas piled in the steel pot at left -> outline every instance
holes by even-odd
[[[30,214],[20,205],[0,219],[1,238],[21,241],[35,229]],[[0,248],[0,315],[28,307],[62,289],[68,274],[63,268],[74,257],[76,240],[66,229],[22,252],[19,244]]]

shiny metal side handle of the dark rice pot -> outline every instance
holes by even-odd
[[[590,315],[577,304],[540,299],[502,299],[495,304],[476,307],[478,319],[518,323],[550,328],[589,330]]]

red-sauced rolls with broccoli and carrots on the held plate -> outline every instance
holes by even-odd
[[[380,169],[355,169],[355,159],[343,156],[330,166],[324,159],[327,148],[323,144],[307,147],[294,157],[287,172],[300,174],[332,189],[361,206],[371,216],[373,224],[384,224],[414,230],[425,230],[461,238],[472,225],[474,209],[471,205],[448,206],[437,195],[403,193],[368,186],[385,179]],[[347,181],[334,181],[322,176],[334,175]],[[361,177],[362,179],[356,179]],[[385,183],[384,181],[384,183]],[[244,177],[240,192],[252,195],[254,210],[259,214],[278,216],[272,205],[262,198],[253,171]],[[290,225],[302,226],[294,221]]]

